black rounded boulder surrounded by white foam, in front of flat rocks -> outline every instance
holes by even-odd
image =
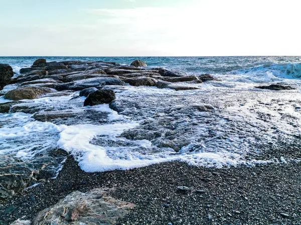
[[[113,90],[96,90],[85,99],[84,106],[110,103],[116,98]]]

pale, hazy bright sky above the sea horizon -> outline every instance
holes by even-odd
[[[300,0],[0,0],[0,55],[301,55]]]

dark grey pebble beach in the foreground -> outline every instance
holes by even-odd
[[[115,224],[300,224],[299,171],[300,162],[205,168],[172,161],[86,173],[68,156],[56,179],[0,201],[0,221],[10,224],[22,216],[33,219],[75,190],[113,187],[113,197],[136,204]],[[180,185],[189,190],[177,190]],[[198,189],[204,192],[196,192]],[[11,205],[15,210],[5,213]]]

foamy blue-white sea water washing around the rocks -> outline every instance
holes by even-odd
[[[0,57],[0,63],[11,64],[18,73],[39,57]],[[295,146],[299,150],[300,56],[43,58],[121,64],[142,59],[149,68],[180,69],[195,75],[210,73],[222,81],[186,83],[200,89],[185,91],[112,87],[116,92],[114,110],[108,104],[83,107],[85,97],[76,97],[79,92],[23,100],[12,109],[26,105],[39,107],[40,112],[71,110],[79,117],[42,122],[18,110],[0,113],[0,166],[14,167],[21,160],[27,168],[47,164],[49,170],[59,171],[64,158],[51,154],[58,148],[72,154],[88,172],[171,160],[209,167],[299,160],[285,152],[260,155],[264,149],[276,152]],[[275,82],[296,89],[254,88]],[[16,86],[8,85],[3,91],[12,88]],[[7,100],[1,97],[0,101]],[[210,105],[213,110],[200,110],[202,105]]]

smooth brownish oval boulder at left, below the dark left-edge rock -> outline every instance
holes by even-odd
[[[5,99],[10,100],[21,100],[21,99],[34,99],[45,93],[56,92],[57,90],[49,87],[19,87],[13,90],[10,90],[4,95]]]

